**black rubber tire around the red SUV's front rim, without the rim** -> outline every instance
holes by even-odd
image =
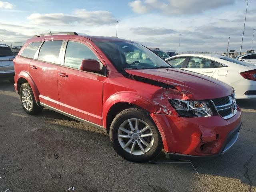
[[[134,155],[129,152],[126,152],[126,150],[122,148],[122,146],[118,141],[118,129],[120,125],[124,121],[132,118],[138,118],[146,122],[148,126],[150,126],[150,128],[152,129],[152,132],[154,135],[154,143],[152,144],[152,147],[150,148],[150,150],[148,150],[148,152],[144,154]],[[146,162],[146,161],[152,160],[153,158],[158,156],[158,154],[163,148],[162,138],[160,136],[160,133],[155,123],[146,112],[138,108],[128,108],[126,110],[123,110],[114,118],[110,126],[110,141],[112,143],[114,150],[122,158],[132,162]]]

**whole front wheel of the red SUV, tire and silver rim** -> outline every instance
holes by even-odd
[[[120,112],[110,126],[114,150],[133,162],[152,160],[162,150],[162,140],[150,116],[138,108]]]

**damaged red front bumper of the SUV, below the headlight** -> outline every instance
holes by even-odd
[[[212,158],[225,153],[236,142],[241,126],[241,111],[230,119],[221,116],[184,118],[151,114],[167,157]]]

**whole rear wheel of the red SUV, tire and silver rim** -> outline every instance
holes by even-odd
[[[22,108],[30,115],[36,115],[42,111],[42,107],[36,104],[34,94],[28,83],[24,83],[20,87],[20,101]]]

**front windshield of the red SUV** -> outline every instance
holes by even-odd
[[[94,42],[118,70],[154,69],[171,67],[152,51],[137,43]]]

